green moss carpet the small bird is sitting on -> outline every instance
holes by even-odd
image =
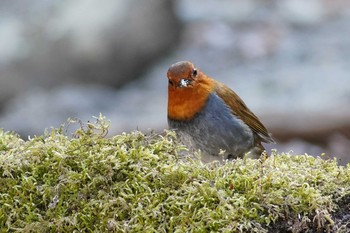
[[[203,164],[174,132],[0,131],[0,232],[349,230],[350,166],[309,155]],[[348,224],[348,226],[346,226]]]

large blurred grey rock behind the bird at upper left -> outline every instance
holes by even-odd
[[[0,4],[0,105],[33,87],[120,87],[179,38],[171,0]]]

